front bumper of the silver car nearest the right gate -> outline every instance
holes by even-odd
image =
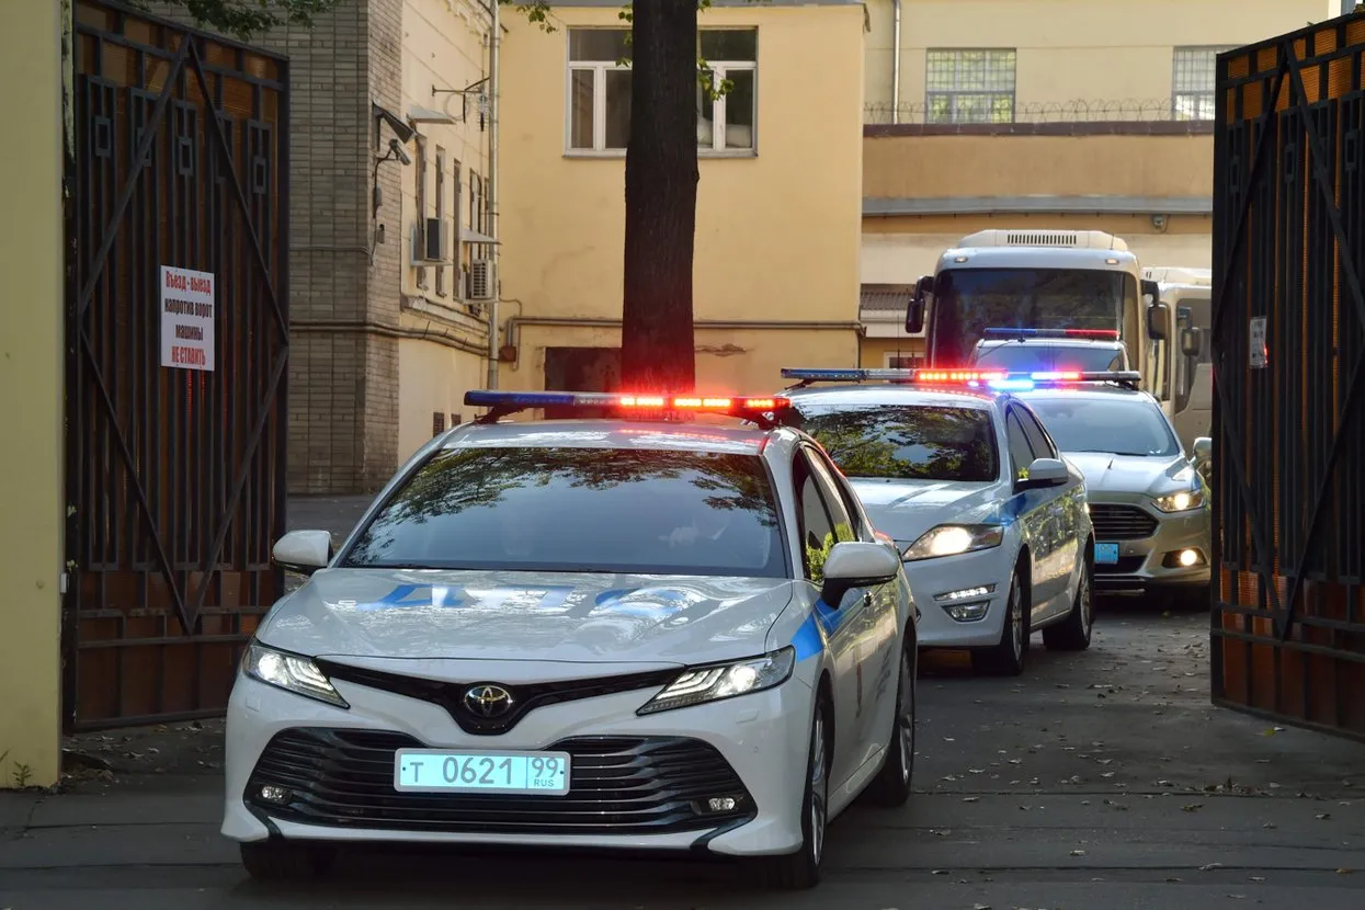
[[[1209,510],[1175,514],[1158,512],[1136,499],[1091,495],[1095,525],[1095,588],[1106,592],[1148,591],[1166,587],[1207,585],[1212,577],[1212,528]],[[1100,559],[1103,544],[1117,544],[1117,562]],[[1194,550],[1194,566],[1164,565],[1171,554]]]

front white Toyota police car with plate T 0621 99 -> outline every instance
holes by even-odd
[[[258,877],[340,842],[672,849],[819,877],[910,793],[909,584],[781,398],[476,392],[247,648],[222,832]],[[498,422],[534,408],[613,419]],[[628,416],[636,411],[637,416]],[[687,411],[755,427],[682,422]],[[652,413],[652,416],[646,416]]]

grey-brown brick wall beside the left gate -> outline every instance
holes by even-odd
[[[192,25],[180,7],[154,12]],[[371,265],[370,101],[401,116],[401,40],[403,0],[343,0],[311,30],[254,41],[288,55],[291,74],[291,494],[369,493],[397,463],[397,340],[382,327],[399,321],[403,169],[378,168],[388,241]]]

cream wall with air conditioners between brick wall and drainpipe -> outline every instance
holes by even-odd
[[[401,244],[400,463],[431,438],[433,412],[446,415],[449,426],[452,413],[468,412],[464,393],[487,385],[487,359],[483,353],[426,341],[423,336],[441,336],[478,351],[487,349],[483,307],[463,300],[461,270],[468,267],[474,248],[459,241],[453,221],[457,217],[460,225],[474,226],[470,177],[478,175],[486,180],[490,176],[490,132],[487,123],[480,128],[476,93],[470,96],[465,108],[459,94],[433,96],[431,89],[465,89],[489,75],[490,26],[491,20],[478,0],[404,0],[403,4],[403,101],[401,109],[394,113],[407,120],[414,108],[425,108],[448,113],[456,123],[414,124],[418,134],[426,138],[426,168],[418,169],[416,142],[408,143],[407,151],[414,164],[401,168],[403,226],[388,239],[388,243]],[[385,131],[384,135],[390,134]],[[425,287],[418,285],[411,250],[416,218],[438,214],[437,153],[442,150],[445,181],[441,214],[448,225],[445,255],[450,265],[444,266],[444,284],[438,292],[437,266],[427,266]],[[425,211],[418,210],[419,179],[425,183]]]

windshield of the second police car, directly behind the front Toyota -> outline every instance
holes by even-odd
[[[794,404],[803,428],[850,478],[988,483],[999,473],[983,408]]]

